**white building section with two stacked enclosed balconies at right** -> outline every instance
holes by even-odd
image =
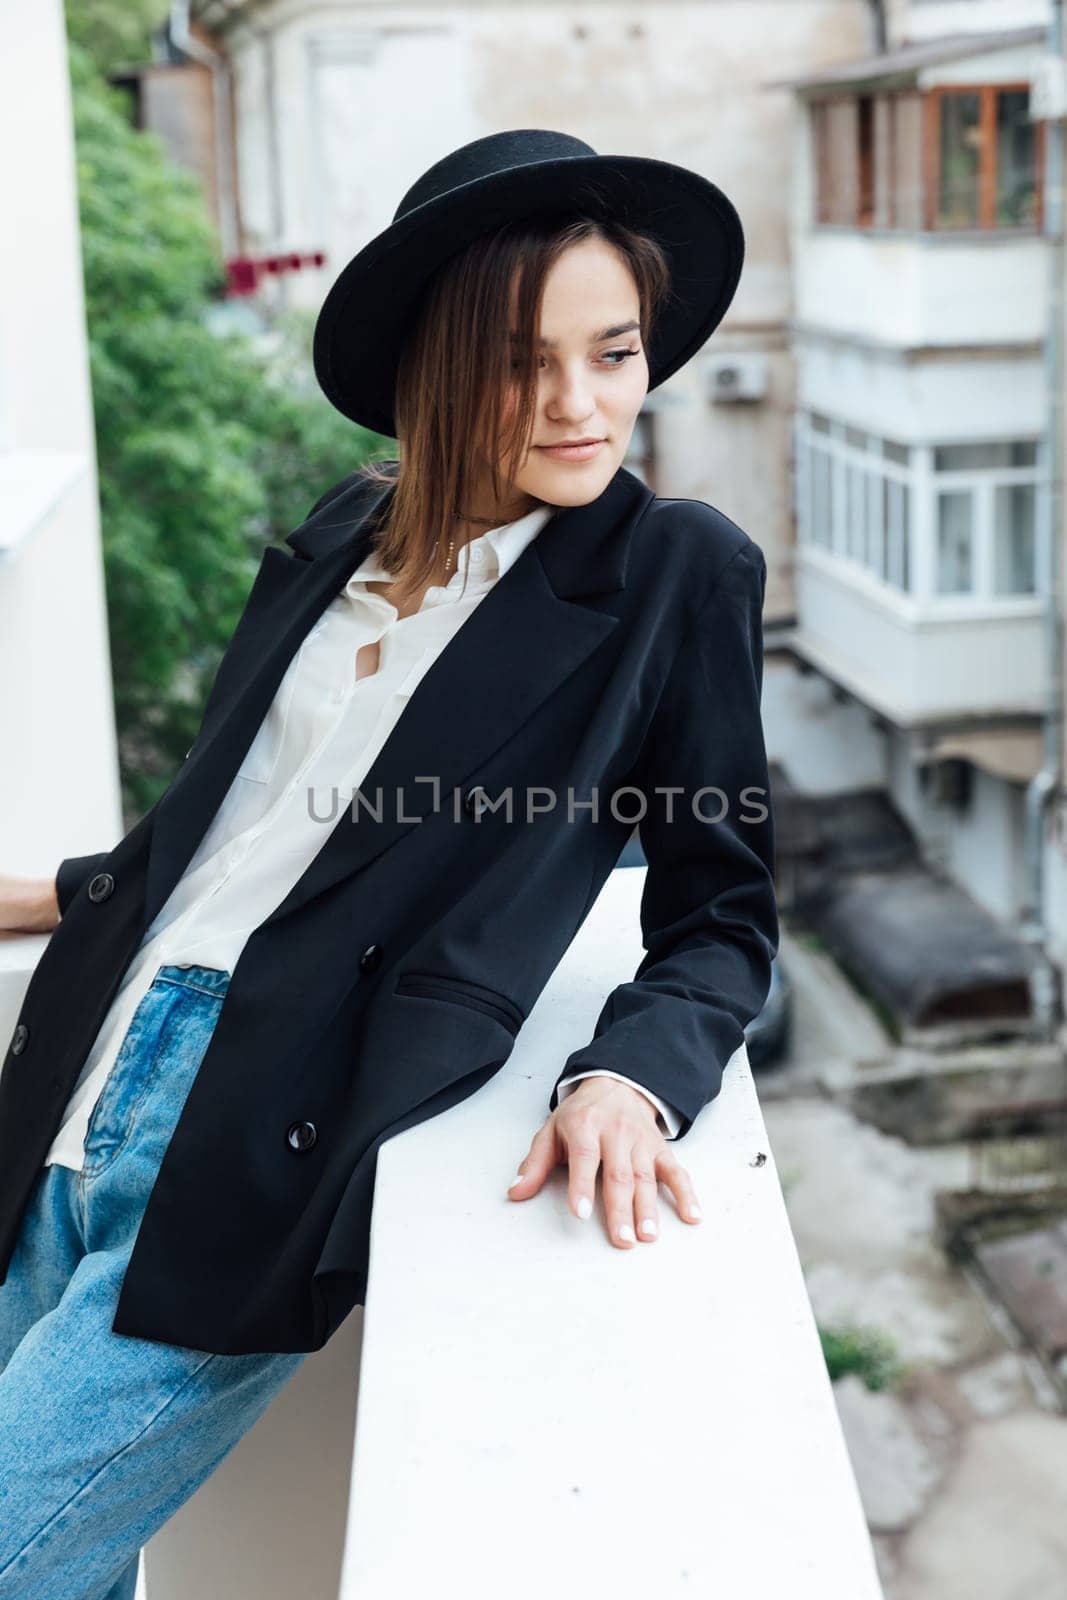
[[[777,82],[795,93],[789,646],[819,725],[793,776],[885,786],[925,858],[1009,928],[1035,910],[1037,846],[1062,963],[1057,806],[1035,818],[1032,787],[1062,544],[1032,114],[1049,19],[915,0],[885,50]]]

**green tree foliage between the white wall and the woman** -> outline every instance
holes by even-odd
[[[195,736],[264,546],[386,443],[317,389],[312,318],[282,318],[266,341],[219,331],[224,274],[198,181],[131,126],[101,74],[101,53],[139,54],[123,11],[144,24],[154,10],[72,0],[67,13],[128,824]]]

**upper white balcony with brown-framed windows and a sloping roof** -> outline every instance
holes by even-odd
[[[797,94],[795,325],[891,350],[1033,346],[1045,304],[1041,26],[909,38]]]

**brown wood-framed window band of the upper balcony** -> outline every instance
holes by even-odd
[[[1045,125],[1029,107],[1025,83],[813,99],[816,222],[1041,227]]]

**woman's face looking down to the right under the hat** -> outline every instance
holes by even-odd
[[[640,299],[630,269],[601,238],[571,245],[541,302],[541,357],[531,437],[506,510],[531,501],[584,506],[611,482],[648,394]],[[573,440],[593,445],[555,450]],[[518,509],[517,509],[518,507]]]

